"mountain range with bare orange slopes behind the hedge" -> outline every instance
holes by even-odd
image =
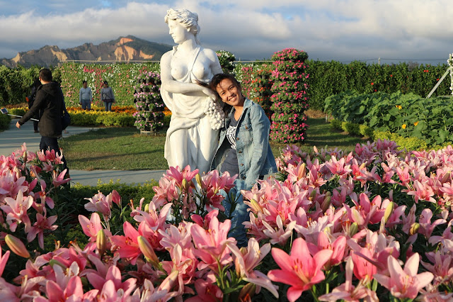
[[[41,67],[56,66],[66,61],[119,61],[129,62],[131,60],[160,60],[161,56],[171,50],[173,46],[149,42],[133,35],[120,37],[116,40],[103,42],[99,45],[85,43],[84,45],[60,49],[57,45],[45,45],[39,50],[28,50],[18,52],[12,59],[0,59],[0,64],[7,67],[30,67],[38,65]]]

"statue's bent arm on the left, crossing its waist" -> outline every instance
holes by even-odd
[[[173,94],[185,94],[193,91],[203,91],[205,87],[202,87],[194,83],[178,82],[171,77],[171,52],[166,52],[161,57],[161,82],[162,88]]]

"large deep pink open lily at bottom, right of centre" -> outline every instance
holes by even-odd
[[[331,255],[331,250],[322,250],[311,257],[305,240],[297,238],[292,243],[291,255],[276,247],[272,249],[272,256],[281,269],[271,270],[268,276],[272,281],[289,284],[287,298],[296,301],[302,292],[326,278],[321,268]]]

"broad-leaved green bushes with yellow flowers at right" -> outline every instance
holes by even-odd
[[[451,99],[431,99],[396,92],[359,94],[345,91],[326,98],[325,111],[339,121],[364,124],[405,138],[419,138],[430,145],[453,141]]]

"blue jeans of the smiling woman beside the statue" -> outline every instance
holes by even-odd
[[[231,218],[231,228],[228,235],[236,239],[238,247],[246,247],[248,238],[246,228],[242,223],[249,221],[250,216],[247,211],[248,206],[243,203],[241,194],[241,190],[246,189],[246,182],[236,179],[234,183],[236,186],[229,191],[228,196],[222,201],[222,206],[225,208],[226,217]]]

